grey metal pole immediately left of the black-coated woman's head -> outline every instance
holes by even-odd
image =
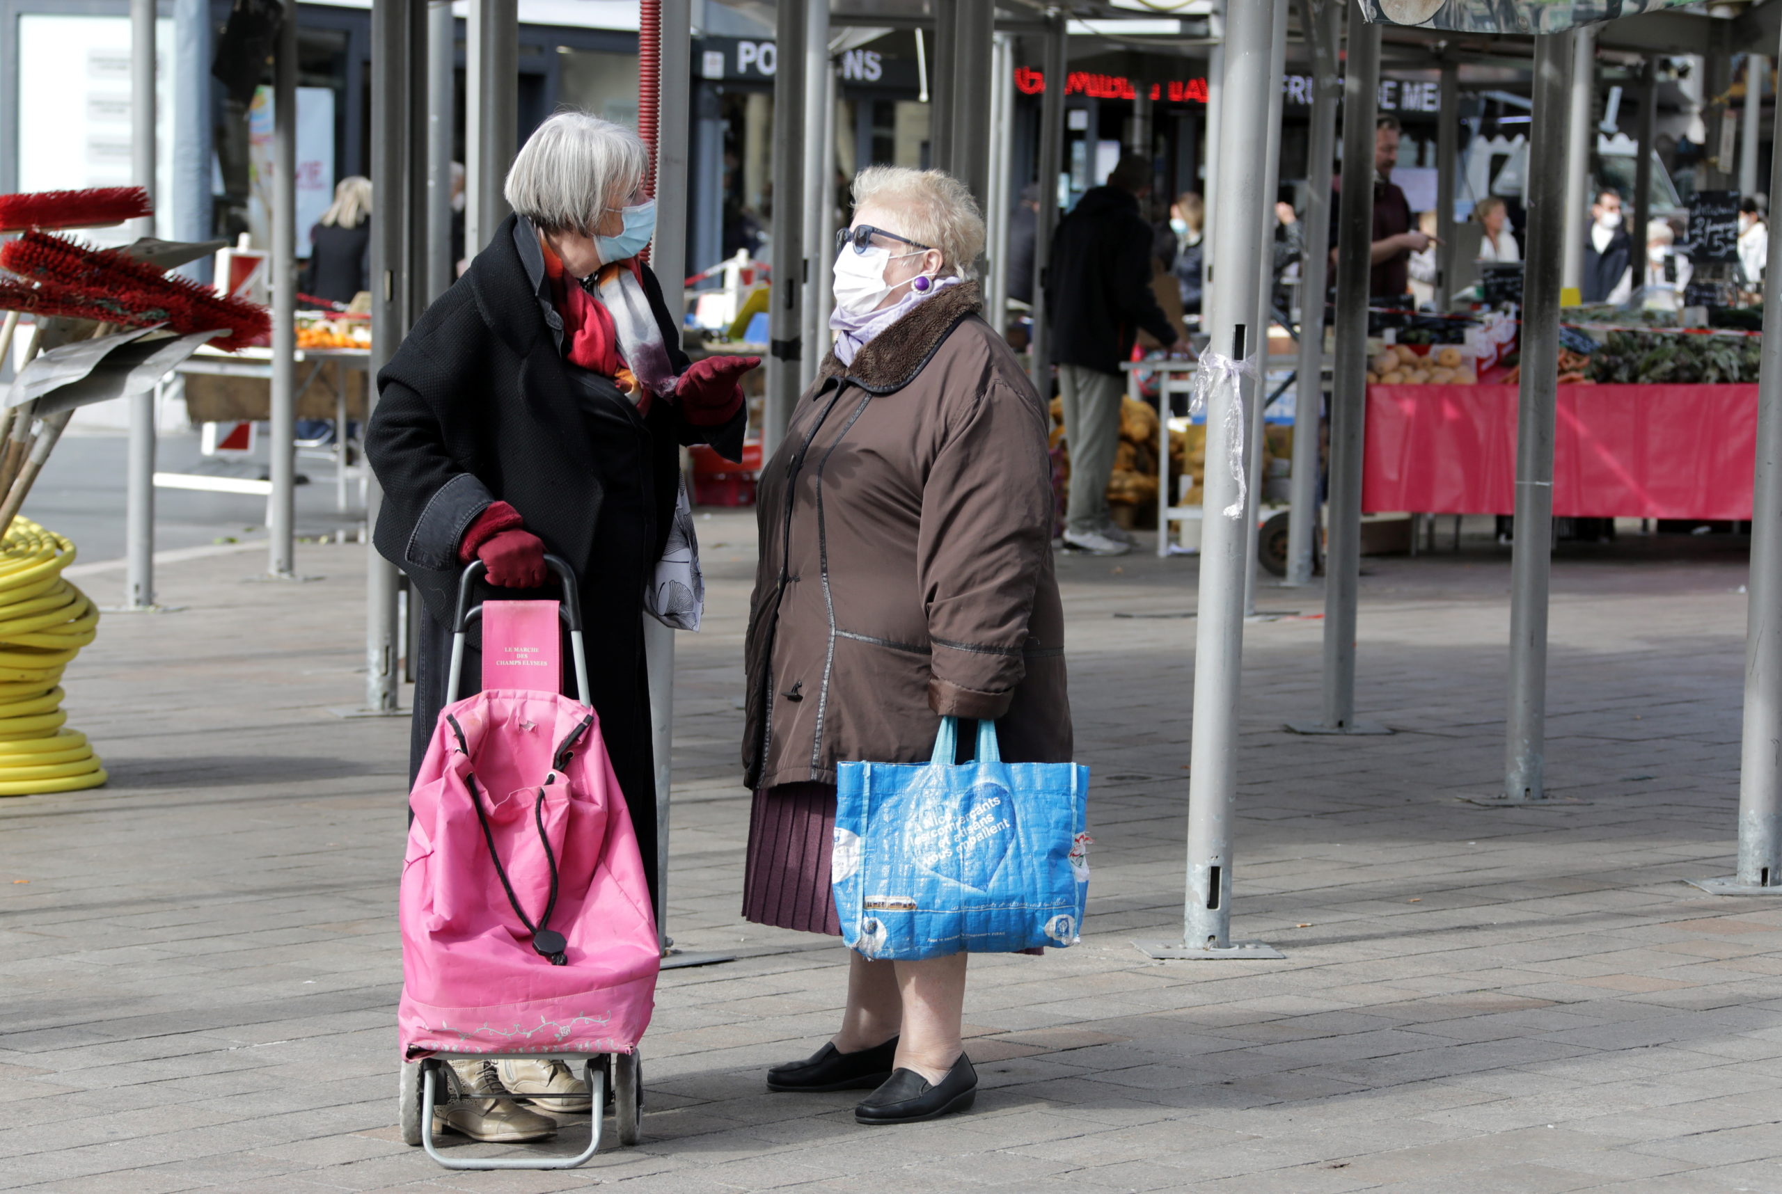
[[[508,217],[501,187],[519,150],[519,0],[470,0],[463,105],[463,251],[469,257],[476,257]]]

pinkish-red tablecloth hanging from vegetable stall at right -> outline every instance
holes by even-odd
[[[1750,519],[1755,385],[1561,385],[1554,513]],[[1516,387],[1370,385],[1361,508],[1515,513]]]

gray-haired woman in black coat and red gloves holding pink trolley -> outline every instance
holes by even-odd
[[[741,458],[738,380],[759,360],[690,365],[681,353],[679,314],[638,258],[656,221],[647,169],[629,128],[584,112],[540,125],[508,171],[513,216],[378,374],[365,454],[383,487],[378,551],[422,599],[410,777],[447,702],[465,565],[481,560],[490,585],[526,597],[545,585],[545,552],[561,556],[581,581],[593,707],[654,891],[645,586],[675,524],[679,446]],[[467,675],[479,668],[467,652]],[[560,1062],[453,1069],[460,1096],[581,1087]],[[478,1141],[556,1130],[547,1116],[478,1098],[451,1101],[440,1123]]]

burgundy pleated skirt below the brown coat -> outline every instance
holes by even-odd
[[[756,791],[748,814],[743,920],[839,937],[841,921],[829,886],[834,834],[834,786],[804,782]]]

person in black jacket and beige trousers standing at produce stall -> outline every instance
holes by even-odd
[[[1114,526],[1107,499],[1126,390],[1119,364],[1132,356],[1139,328],[1171,353],[1189,351],[1151,290],[1153,233],[1139,214],[1140,200],[1149,194],[1151,162],[1130,153],[1107,185],[1078,200],[1051,241],[1046,307],[1071,451],[1064,545],[1096,556],[1132,551],[1132,538]]]

